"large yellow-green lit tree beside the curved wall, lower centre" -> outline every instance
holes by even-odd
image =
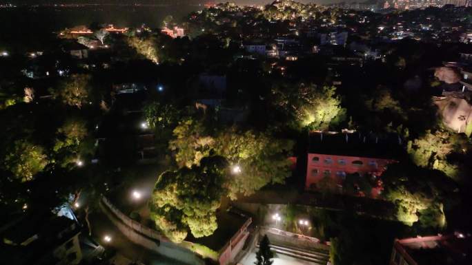
[[[173,242],[185,239],[187,228],[195,237],[212,235],[217,229],[226,160],[211,156],[200,166],[166,171],[159,176],[150,200],[151,218]]]

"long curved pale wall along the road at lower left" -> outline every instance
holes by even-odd
[[[131,220],[128,216],[116,209],[106,198],[103,198],[101,201],[100,208],[110,221],[117,226],[119,231],[131,242],[144,246],[170,259],[175,259],[189,265],[205,264],[204,260],[193,251],[174,244],[165,237],[162,237],[159,232]]]

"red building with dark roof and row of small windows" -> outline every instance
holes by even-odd
[[[305,189],[320,189],[322,180],[332,180],[336,184],[337,191],[344,192],[346,178],[352,178],[357,173],[358,178],[351,182],[353,189],[360,190],[356,182],[365,180],[371,182],[371,194],[360,191],[357,195],[377,197],[382,190],[382,175],[386,166],[395,162],[393,149],[400,145],[394,140],[393,145],[385,145],[385,139],[364,137],[354,134],[324,135],[315,134],[311,138],[311,148],[308,150],[306,165]],[[390,141],[391,142],[391,141]],[[391,151],[391,153],[389,152]],[[383,152],[383,154],[381,154]],[[352,183],[351,183],[352,184]]]

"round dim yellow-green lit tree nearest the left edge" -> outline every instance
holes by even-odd
[[[27,140],[16,140],[3,159],[3,167],[22,182],[32,180],[48,163],[43,148]]]

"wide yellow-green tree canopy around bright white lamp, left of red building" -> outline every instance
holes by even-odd
[[[239,131],[230,127],[212,134],[201,121],[184,120],[174,130],[175,139],[170,149],[180,166],[198,165],[201,158],[215,153],[223,156],[239,172],[228,176],[228,195],[253,194],[269,183],[284,183],[290,175],[293,141],[274,138],[267,132]]]

